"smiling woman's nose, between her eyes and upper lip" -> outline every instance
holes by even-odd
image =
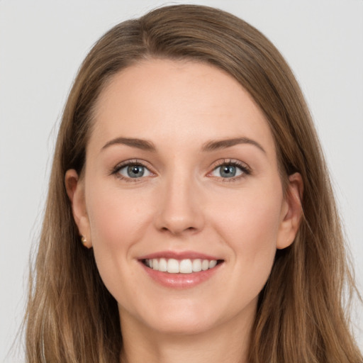
[[[174,177],[165,181],[158,198],[155,227],[172,235],[196,233],[203,228],[201,193],[195,181]]]

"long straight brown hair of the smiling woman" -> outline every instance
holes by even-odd
[[[264,112],[281,180],[303,179],[303,220],[277,252],[259,296],[250,362],[361,363],[342,298],[354,290],[340,220],[318,138],[294,75],[274,45],[245,21],[205,6],[167,6],[108,31],[70,91],[52,164],[26,313],[28,362],[119,362],[117,303],[79,241],[64,178],[82,173],[94,105],[121,69],[150,58],[206,62],[231,74]]]

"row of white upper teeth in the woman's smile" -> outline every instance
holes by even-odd
[[[206,271],[216,267],[216,259],[165,259],[154,258],[145,259],[145,264],[150,269],[160,272],[168,272],[169,274],[191,274],[192,272]]]

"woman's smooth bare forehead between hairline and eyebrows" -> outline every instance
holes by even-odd
[[[274,150],[264,114],[228,73],[201,62],[147,60],[123,69],[101,91],[90,143],[116,137],[164,145],[258,138]]]

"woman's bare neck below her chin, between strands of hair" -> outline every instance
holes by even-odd
[[[247,363],[255,314],[196,334],[160,333],[123,314],[122,363]]]

